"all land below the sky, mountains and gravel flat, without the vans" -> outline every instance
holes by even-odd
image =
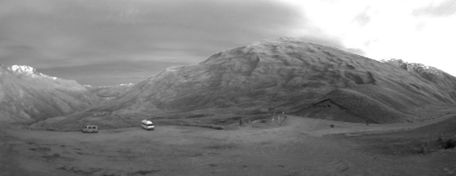
[[[455,77],[294,38],[118,86],[2,66],[0,104],[0,175],[456,172]]]

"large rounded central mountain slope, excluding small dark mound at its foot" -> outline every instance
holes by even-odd
[[[451,95],[456,92],[456,79],[449,76],[445,80],[451,85],[335,48],[281,38],[223,51],[198,65],[168,68],[125,91],[114,106],[127,102],[120,107],[171,111],[293,108],[336,88],[361,91],[366,88],[359,85],[370,85],[381,93],[376,98],[391,93],[399,96],[395,97],[399,102],[384,102],[390,106],[410,101],[407,104],[420,107],[454,103]],[[104,109],[110,110],[110,106]]]

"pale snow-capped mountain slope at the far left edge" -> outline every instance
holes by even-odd
[[[99,105],[76,81],[49,77],[29,66],[0,65],[0,122],[28,124]]]

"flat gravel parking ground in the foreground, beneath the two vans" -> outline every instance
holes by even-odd
[[[325,135],[331,133],[331,123],[334,122],[289,116],[280,127],[213,130],[157,126],[155,131],[137,127],[100,130],[95,134],[0,127],[0,175],[441,173],[426,162],[438,154],[404,157],[359,150],[358,144],[343,137]],[[399,128],[338,123],[332,132]]]

